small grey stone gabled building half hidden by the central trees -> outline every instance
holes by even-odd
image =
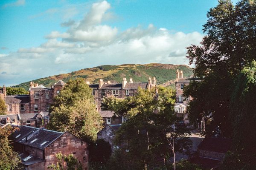
[[[111,145],[112,151],[119,146],[114,146],[113,141],[115,139],[115,132],[121,127],[121,125],[106,125],[97,133],[97,139],[104,139]],[[117,148],[118,149],[118,148]]]

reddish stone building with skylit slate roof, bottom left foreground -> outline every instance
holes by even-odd
[[[22,126],[12,133],[14,150],[26,170],[47,170],[47,166],[58,162],[55,154],[73,154],[88,169],[87,143],[70,132],[57,132],[44,128]]]

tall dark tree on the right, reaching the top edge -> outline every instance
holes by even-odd
[[[192,96],[187,112],[189,119],[207,118],[208,136],[230,137],[230,101],[236,76],[256,54],[256,1],[241,0],[235,6],[230,0],[219,0],[207,13],[201,45],[187,48],[189,64],[201,82],[191,82],[184,90]]]

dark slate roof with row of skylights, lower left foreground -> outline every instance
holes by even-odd
[[[39,129],[36,127],[23,125],[19,128],[19,130],[15,130],[15,132],[12,133],[12,136],[14,137],[15,142],[44,150],[44,148],[46,148],[49,144],[54,142],[64,133],[65,132],[57,132],[53,130],[47,130],[44,128]],[[37,140],[32,142],[34,139]],[[43,142],[46,143],[40,146]]]

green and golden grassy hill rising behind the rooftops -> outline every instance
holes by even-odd
[[[192,75],[192,68],[187,65],[172,65],[172,64],[124,64],[124,65],[101,65],[94,68],[84,68],[79,71],[73,71],[68,74],[59,74],[55,76],[45,77],[41,79],[31,80],[42,84],[46,87],[50,87],[51,84],[63,80],[67,82],[70,79],[76,79],[77,77],[84,78],[86,81],[90,81],[91,84],[97,83],[99,79],[104,81],[111,80],[111,82],[122,82],[122,78],[132,78],[134,82],[147,82],[148,77],[156,77],[157,84],[168,82],[169,80],[176,78],[176,70],[183,71],[183,77],[190,77]],[[15,87],[22,87],[26,90],[29,89],[29,82],[24,82]]]

